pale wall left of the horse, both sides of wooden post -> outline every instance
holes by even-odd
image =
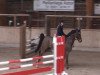
[[[31,38],[36,38],[43,32],[43,28],[33,28]],[[26,31],[27,39],[30,37],[30,30]],[[20,28],[19,27],[0,27],[0,47],[1,46],[19,46],[20,43]]]

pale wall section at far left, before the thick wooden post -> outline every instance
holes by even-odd
[[[11,46],[19,43],[19,28],[0,27],[0,46]]]

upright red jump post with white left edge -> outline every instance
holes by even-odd
[[[54,75],[68,75],[64,70],[65,37],[54,36]]]

